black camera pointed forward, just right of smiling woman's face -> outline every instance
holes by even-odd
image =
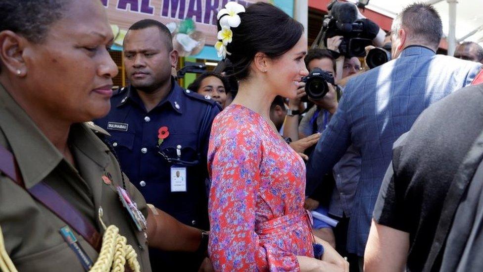
[[[314,68],[310,73],[302,78],[305,82],[306,97],[302,101],[307,102],[307,98],[312,100],[320,100],[329,92],[329,85],[335,85],[334,76],[330,72],[324,71],[321,68]]]

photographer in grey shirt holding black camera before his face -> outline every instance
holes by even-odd
[[[311,49],[304,61],[310,74],[303,79],[306,85],[299,90],[297,98],[289,100],[287,110],[289,114],[284,127],[284,134],[288,135],[288,132],[297,134],[298,126],[296,136],[300,136],[302,140],[308,139],[305,138],[308,135],[323,133],[337,110],[340,98],[340,89],[334,84],[334,78],[338,73],[332,54],[327,50]],[[298,124],[298,114],[301,109],[299,105],[302,101],[310,101],[312,107],[309,107]],[[306,154],[310,155],[311,150]],[[315,210],[339,221],[337,227],[333,229],[329,224],[314,218],[313,232],[319,238],[329,242],[343,256],[348,256],[345,250],[347,225],[351,199],[359,179],[360,159],[358,157],[357,153],[348,151],[347,156],[344,156],[334,167],[334,177],[332,173],[328,175],[328,178],[335,180],[335,186],[334,182],[329,186],[319,186],[304,204],[308,210]]]

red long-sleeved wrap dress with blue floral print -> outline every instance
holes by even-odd
[[[299,271],[313,257],[305,165],[258,113],[231,105],[213,121],[209,256],[216,271]]]

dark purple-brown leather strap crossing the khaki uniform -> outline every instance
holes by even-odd
[[[42,203],[47,209],[62,219],[81,235],[91,246],[100,251],[102,236],[96,228],[83,217],[65,198],[60,196],[44,181],[37,183],[31,188],[26,188],[17,161],[13,154],[0,145],[0,171],[11,178],[20,187]]]

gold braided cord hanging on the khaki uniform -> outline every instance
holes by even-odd
[[[141,266],[138,262],[138,255],[134,248],[127,244],[126,237],[119,234],[119,228],[115,225],[105,226],[102,221],[102,208],[99,208],[99,221],[104,228],[102,236],[102,247],[100,249],[97,261],[90,272],[124,272],[126,262],[134,272],[140,272]],[[3,235],[0,227],[0,271],[2,272],[18,272],[13,265],[12,260],[8,257],[3,243]]]

